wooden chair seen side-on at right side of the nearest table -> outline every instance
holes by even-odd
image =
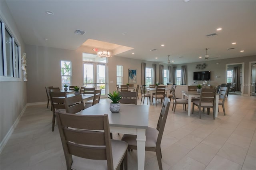
[[[162,170],[162,152],[161,152],[161,141],[164,133],[164,127],[170,107],[170,101],[168,97],[164,98],[164,103],[159,115],[158,123],[156,128],[148,127],[146,129],[146,144],[145,150],[156,152],[156,158],[158,167]],[[128,143],[129,150],[137,149],[137,136],[132,134],[124,134],[122,140]]]

